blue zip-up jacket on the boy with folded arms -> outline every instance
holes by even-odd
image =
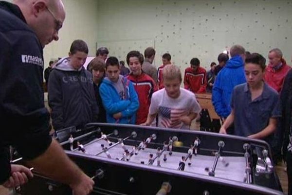
[[[136,112],[139,108],[139,99],[133,83],[120,75],[118,82],[122,82],[125,89],[126,99],[121,100],[120,95],[109,78],[104,78],[99,93],[107,113],[107,122],[120,124],[135,124]],[[116,113],[122,113],[122,117],[115,119]]]

